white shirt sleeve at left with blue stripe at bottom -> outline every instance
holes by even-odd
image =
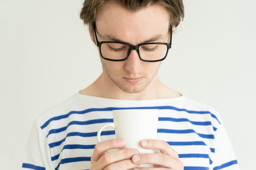
[[[22,170],[55,170],[43,130],[34,124],[29,136]]]

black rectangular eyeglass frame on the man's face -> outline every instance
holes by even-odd
[[[171,27],[171,38],[170,38],[170,42],[169,43],[164,43],[164,42],[147,42],[147,43],[141,43],[141,44],[138,44],[136,46],[133,46],[132,44],[129,44],[129,43],[126,43],[126,42],[115,42],[115,41],[101,41],[101,42],[99,42],[99,40],[97,38],[97,34],[96,34],[96,25],[95,24],[94,24],[94,36],[95,36],[95,39],[96,39],[96,44],[99,47],[99,51],[100,51],[101,57],[104,60],[109,60],[109,61],[113,61],[113,62],[121,62],[121,61],[124,61],[124,60],[126,60],[128,58],[128,56],[130,55],[130,52],[132,50],[136,50],[138,55],[139,55],[139,59],[141,61],[143,61],[143,62],[160,62],[160,61],[163,61],[166,58],[169,49],[171,49],[171,42],[172,42],[172,26],[171,26],[171,24],[170,24],[170,27]],[[101,53],[101,44],[103,44],[103,43],[118,43],[118,44],[126,44],[126,45],[128,45],[129,49],[127,51],[126,57],[124,59],[121,59],[121,60],[114,60],[114,59],[109,59],[109,58],[104,57],[102,55],[102,53]],[[139,54],[139,47],[141,45],[146,45],[146,44],[164,44],[164,45],[166,45],[167,46],[166,55],[163,58],[159,59],[159,60],[143,60],[141,58],[140,54]]]

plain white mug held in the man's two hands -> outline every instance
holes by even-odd
[[[140,153],[155,153],[155,150],[144,149],[140,146],[143,139],[157,138],[158,109],[124,109],[113,110],[114,122],[106,124],[97,133],[98,142],[101,142],[101,132],[106,127],[115,129],[117,139],[124,139],[124,148],[136,148]],[[153,167],[143,164],[140,167]]]

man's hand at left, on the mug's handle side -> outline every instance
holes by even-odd
[[[132,163],[132,156],[139,154],[137,149],[120,149],[106,152],[111,149],[124,148],[123,139],[110,139],[96,144],[91,157],[90,170],[129,170],[139,166]]]

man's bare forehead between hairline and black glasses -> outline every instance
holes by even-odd
[[[107,2],[96,15],[97,31],[125,42],[137,43],[168,33],[169,15],[164,7],[152,5],[136,12],[128,11],[113,2]],[[135,44],[136,44],[135,43]]]

